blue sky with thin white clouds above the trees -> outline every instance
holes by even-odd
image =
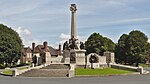
[[[97,32],[117,43],[132,30],[150,39],[150,0],[0,0],[0,24],[17,31],[25,46],[47,41],[57,48],[70,38],[72,3],[81,41]]]

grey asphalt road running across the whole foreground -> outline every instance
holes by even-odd
[[[150,74],[85,78],[21,78],[0,76],[0,84],[150,84]]]

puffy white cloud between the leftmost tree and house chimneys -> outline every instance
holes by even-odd
[[[30,30],[28,29],[25,29],[25,28],[21,28],[21,27],[18,27],[16,29],[16,32],[18,32],[19,36],[21,37],[22,41],[23,41],[23,44],[25,47],[27,46],[31,46],[31,44],[34,42],[35,44],[41,44],[42,41],[36,39]]]

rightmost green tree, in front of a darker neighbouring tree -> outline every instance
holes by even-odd
[[[131,61],[136,63],[136,66],[138,66],[140,62],[144,62],[148,52],[147,36],[143,32],[137,30],[131,31],[129,33],[128,45],[130,47],[130,58],[133,58]]]

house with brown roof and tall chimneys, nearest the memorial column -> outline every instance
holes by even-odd
[[[48,46],[48,42],[43,42],[43,45],[37,45],[36,47],[35,43],[32,43],[32,51],[37,65],[61,63],[61,59],[63,58],[61,45],[59,45],[59,49],[54,49],[51,46]]]

